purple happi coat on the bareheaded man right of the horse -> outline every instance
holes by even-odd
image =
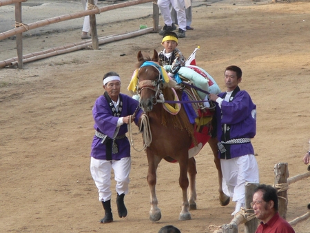
[[[234,94],[234,92],[236,93]],[[218,141],[229,141],[230,139],[252,139],[256,135],[256,105],[245,90],[238,87],[234,90],[234,99],[229,102],[223,101],[219,108],[216,103],[216,121]],[[226,92],[218,94],[225,99]],[[227,132],[223,132],[223,124],[227,124]],[[231,159],[246,154],[254,154],[251,143],[225,144],[224,153],[218,152],[219,159]]]

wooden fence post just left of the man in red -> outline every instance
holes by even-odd
[[[254,214],[254,210],[251,209],[251,202],[253,201],[254,190],[258,186],[258,183],[245,183],[245,210],[247,214]],[[256,218],[251,219],[245,223],[245,233],[255,233],[258,226]]]

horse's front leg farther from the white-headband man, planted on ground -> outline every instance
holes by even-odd
[[[188,157],[188,153],[186,152],[186,156]],[[180,188],[182,189],[183,203],[182,210],[180,212],[180,216],[178,220],[189,220],[192,219],[191,214],[189,213],[189,201],[187,199],[187,188],[189,185],[188,177],[187,177],[187,168],[188,168],[188,159],[180,159],[178,161],[180,165],[180,177],[178,182],[180,184]]]

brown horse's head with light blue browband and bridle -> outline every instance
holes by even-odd
[[[158,65],[158,52],[154,50],[152,59],[149,56],[143,57],[138,52],[138,93],[140,94],[140,107],[145,112],[150,112],[153,105],[157,103],[157,97],[161,94],[160,85],[162,82],[161,67]]]

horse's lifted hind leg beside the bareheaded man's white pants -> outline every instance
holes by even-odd
[[[220,167],[220,159],[218,159],[218,139],[211,137],[208,143],[214,154],[214,163],[216,164],[216,169],[218,170],[218,192],[220,193],[220,205],[225,206],[229,204],[230,198],[223,192],[222,188],[223,174],[222,168]]]

